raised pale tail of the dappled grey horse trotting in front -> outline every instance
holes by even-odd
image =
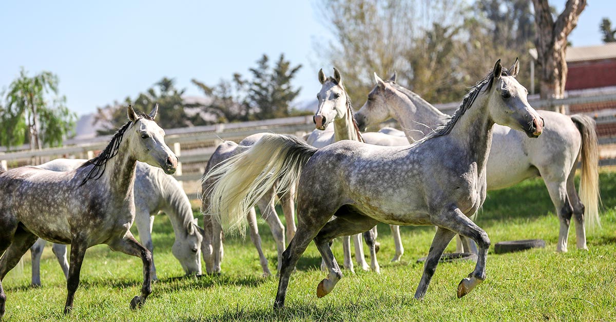
[[[251,207],[274,185],[278,193],[286,193],[316,152],[317,148],[294,137],[265,134],[203,176],[201,182],[212,182],[204,191],[204,198],[209,195],[209,201],[204,201],[209,203],[207,213],[226,230],[243,234]]]

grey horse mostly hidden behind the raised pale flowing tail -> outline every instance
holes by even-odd
[[[231,156],[246,150],[246,147],[250,147],[254,144],[254,142],[261,139],[262,135],[264,135],[264,133],[250,135],[241,140],[239,145],[230,141],[222,143],[216,148],[216,151],[214,151],[213,155],[209,158],[208,164],[205,167],[205,173],[217,166],[217,164],[223,163]],[[212,217],[208,216],[206,212],[206,209],[208,209],[208,187],[211,184],[212,182],[203,182],[201,185],[201,191],[203,191],[203,196],[201,198],[201,209],[204,214],[203,228],[205,229],[203,236],[203,259],[205,260],[205,269],[208,274],[221,272],[221,262],[224,255],[222,245],[222,228],[218,222],[211,220]],[[261,216],[265,219],[267,225],[269,225],[272,235],[274,235],[274,241],[278,250],[278,270],[280,270],[280,265],[282,264],[282,252],[285,251],[286,247],[285,226],[282,224],[280,218],[278,218],[278,214],[276,213],[274,201],[272,200],[272,196],[274,195],[275,189],[270,190],[267,196],[264,196],[264,198],[259,200],[257,205],[259,206],[259,211],[261,211]],[[293,195],[294,193],[291,192],[288,195],[280,196],[280,203],[282,205],[282,210],[285,214],[286,220],[286,237],[289,240],[293,238],[296,230],[295,201]],[[261,248],[261,236],[259,235],[257,217],[254,208],[248,213],[246,220],[250,231],[250,239],[259,253],[259,262],[261,263],[263,275],[270,276],[272,273],[269,270],[267,258],[265,258],[265,254]]]

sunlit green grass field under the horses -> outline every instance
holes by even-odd
[[[6,321],[177,321],[177,320],[616,320],[616,173],[601,174],[604,209],[602,229],[588,231],[590,251],[575,249],[570,229],[569,252],[557,254],[559,223],[541,180],[492,191],[477,223],[492,245],[509,239],[542,238],[545,249],[496,255],[487,262],[487,280],[462,299],[456,286],[472,271],[471,262],[441,264],[424,300],[413,299],[422,264],[434,235],[432,227],[402,227],[405,254],[391,264],[394,245],[386,225],[379,225],[381,274],[345,273],[334,291],[317,299],[315,290],[325,273],[311,245],[291,276],[286,308],[272,310],[278,280],[262,278],[249,239],[227,238],[220,276],[181,277],[171,254],[174,235],[168,219],[156,219],[153,242],[160,280],[144,308],[129,310],[139,294],[140,259],[111,252],[106,246],[87,251],[75,308],[62,314],[64,276],[51,248],[41,263],[42,288],[30,287],[30,256],[23,272],[13,270],[2,281],[7,292]],[[276,252],[267,225],[260,225],[264,250],[275,271]],[[134,232],[136,233],[136,232]],[[341,245],[334,254],[342,262]],[[453,251],[450,244],[447,251]],[[205,270],[205,265],[204,265]]]

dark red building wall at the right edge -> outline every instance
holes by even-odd
[[[616,86],[616,59],[567,63],[565,91]]]

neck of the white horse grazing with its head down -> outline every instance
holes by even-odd
[[[195,219],[190,201],[179,182],[173,179],[171,175],[164,174],[161,171],[156,171],[156,175],[158,176],[157,182],[159,182],[161,196],[163,196],[167,206],[165,212],[176,234],[176,239],[179,236],[185,236],[188,225]]]

